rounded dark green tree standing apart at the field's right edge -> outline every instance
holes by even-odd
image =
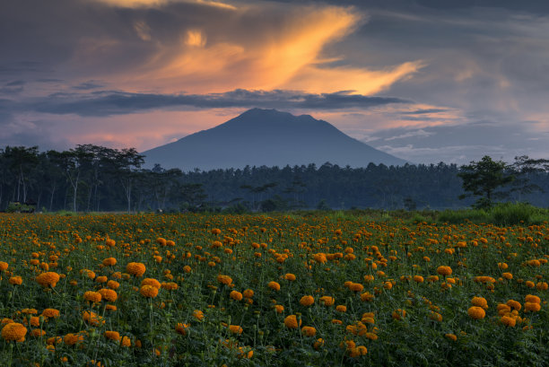
[[[515,179],[509,173],[509,167],[505,162],[494,162],[488,155],[484,155],[479,162],[472,161],[471,164],[461,166],[457,176],[463,180],[463,189],[471,193],[460,195],[459,199],[468,196],[479,197],[474,205],[477,208],[489,208],[494,197],[508,195],[497,190]]]

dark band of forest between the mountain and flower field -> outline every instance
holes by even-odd
[[[244,213],[452,209],[475,203],[474,197],[463,198],[460,174],[466,166],[444,162],[364,168],[326,162],[188,172],[158,164],[143,167],[144,156],[134,148],[82,144],[40,152],[38,146],[6,146],[0,150],[0,210]],[[494,191],[496,201],[549,206],[548,161],[521,156],[504,170],[512,179]]]

